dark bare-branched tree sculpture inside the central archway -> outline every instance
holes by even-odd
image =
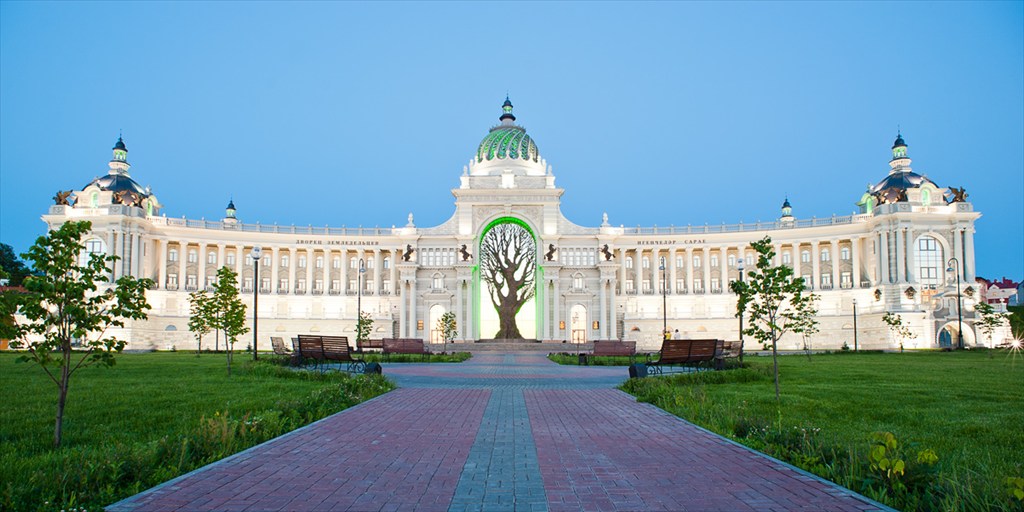
[[[490,228],[480,243],[480,279],[487,284],[498,311],[495,338],[522,338],[515,316],[534,297],[537,243],[523,226],[506,222]]]

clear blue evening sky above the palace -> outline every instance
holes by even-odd
[[[0,242],[119,130],[168,216],[436,225],[508,92],[583,225],[849,214],[899,126],[1020,280],[1022,6],[3,1]]]

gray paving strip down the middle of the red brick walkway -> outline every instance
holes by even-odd
[[[490,394],[450,511],[546,511],[522,389]]]

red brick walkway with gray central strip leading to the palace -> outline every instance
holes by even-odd
[[[535,353],[385,365],[399,389],[108,510],[887,510]]]

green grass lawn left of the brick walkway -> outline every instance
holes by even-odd
[[[121,354],[72,377],[63,443],[56,387],[0,353],[0,510],[98,510],[390,389],[380,376],[294,372],[236,354]]]

